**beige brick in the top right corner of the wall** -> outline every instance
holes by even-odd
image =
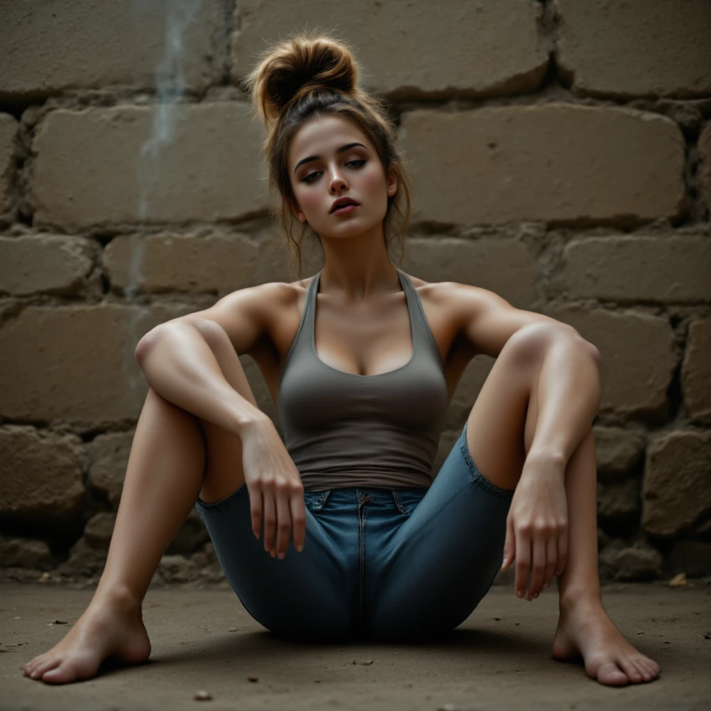
[[[556,0],[573,88],[617,97],[711,93],[708,0]]]

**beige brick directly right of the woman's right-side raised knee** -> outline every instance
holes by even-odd
[[[575,306],[550,307],[547,316],[576,328],[602,355],[601,410],[660,415],[676,365],[666,319]]]

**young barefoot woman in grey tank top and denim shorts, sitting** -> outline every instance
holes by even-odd
[[[31,678],[67,683],[109,656],[148,658],[141,602],[196,501],[242,604],[275,634],[447,633],[515,561],[515,594],[528,601],[557,575],[556,659],[582,656],[607,685],[657,678],[602,604],[599,353],[496,294],[392,264],[387,245],[410,213],[407,173],[394,124],[357,78],[343,43],[302,33],[245,80],[299,272],[306,233],[324,268],[240,289],[141,339],[150,387],[106,567],[73,629],[24,665]],[[278,403],[285,444],[257,407],[242,353]],[[450,397],[476,353],[496,363],[433,479]]]

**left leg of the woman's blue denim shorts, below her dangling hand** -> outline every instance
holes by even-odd
[[[326,532],[314,510],[328,492],[306,492],[306,542],[289,540],[284,560],[272,558],[252,533],[247,485],[215,503],[198,500],[225,577],[247,612],[284,637],[351,636],[353,604],[348,546]],[[346,549],[346,550],[344,550]]]

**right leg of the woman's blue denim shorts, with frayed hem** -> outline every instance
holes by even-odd
[[[466,430],[426,492],[395,492],[406,520],[366,540],[366,618],[372,638],[425,638],[459,626],[501,568],[513,491],[488,481]]]

